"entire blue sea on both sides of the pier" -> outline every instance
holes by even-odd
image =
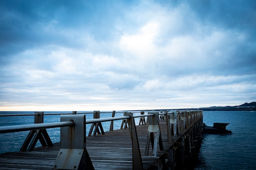
[[[89,111],[90,112],[90,111]],[[3,114],[33,114],[34,112],[6,112]],[[72,113],[72,112],[44,112]],[[79,113],[79,112],[78,112]],[[83,112],[85,113],[85,112]],[[138,113],[139,114],[139,113]],[[204,111],[203,121],[207,126],[213,123],[229,123],[232,134],[203,135],[202,145],[195,170],[256,170],[256,112],[255,111]],[[112,113],[101,113],[100,117],[111,117]],[[123,116],[116,113],[115,117]],[[86,113],[86,119],[93,119],[93,114]],[[45,115],[44,122],[58,122],[60,115]],[[135,119],[136,125],[139,118]],[[34,116],[0,117],[0,126],[34,124]],[[104,131],[109,131],[110,122],[102,123]],[[86,132],[90,130],[86,125]],[[114,129],[119,129],[121,120],[114,121]],[[60,141],[60,128],[47,129],[53,143]],[[0,153],[19,151],[28,135],[25,132],[0,134]],[[40,146],[40,143],[36,146]]]

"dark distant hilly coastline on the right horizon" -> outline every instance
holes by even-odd
[[[218,111],[239,111],[239,110],[251,110],[251,111],[256,111],[256,102],[252,103],[245,103],[241,104],[239,106],[212,106],[209,108],[199,108],[200,110],[205,110],[205,111],[213,111],[213,110],[218,110]]]

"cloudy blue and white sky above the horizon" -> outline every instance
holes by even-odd
[[[255,0],[0,1],[1,111],[255,101]]]

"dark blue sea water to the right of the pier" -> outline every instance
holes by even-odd
[[[204,123],[229,123],[232,134],[204,135],[196,170],[256,170],[256,112],[204,111]]]

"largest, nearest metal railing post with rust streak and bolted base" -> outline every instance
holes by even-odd
[[[74,126],[61,127],[61,149],[54,170],[94,170],[86,150],[85,115],[61,115],[61,121],[73,121]]]

